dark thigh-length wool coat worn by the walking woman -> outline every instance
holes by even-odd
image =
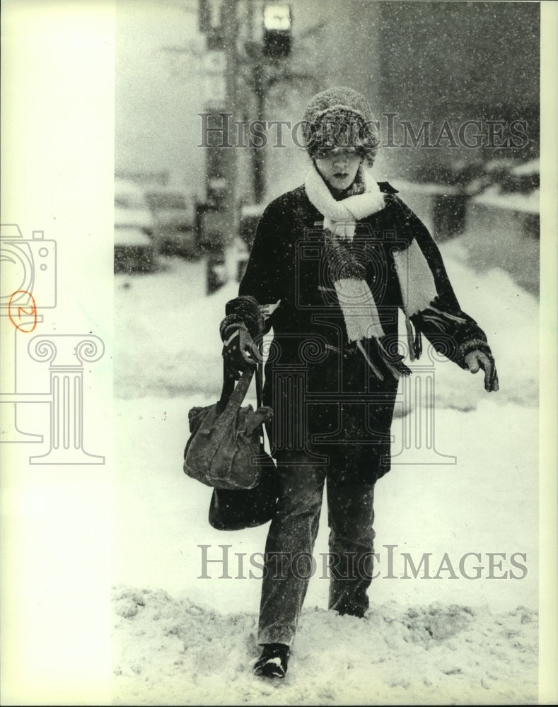
[[[393,250],[416,239],[434,275],[436,308],[465,322],[444,318],[442,331],[420,315],[412,322],[437,351],[466,368],[470,351],[489,353],[487,338],[460,310],[423,223],[388,182],[381,182],[380,189],[385,208],[356,222],[353,247],[366,264],[385,340],[397,346],[402,305]],[[272,201],[257,226],[239,295],[250,295],[260,305],[281,300],[267,321],[274,339],[264,386],[264,402],[274,409],[274,455],[281,460],[289,452],[303,452],[308,463],[327,464],[340,479],[373,483],[390,469],[397,380],[378,380],[356,344],[347,341],[322,222],[303,186]]]

